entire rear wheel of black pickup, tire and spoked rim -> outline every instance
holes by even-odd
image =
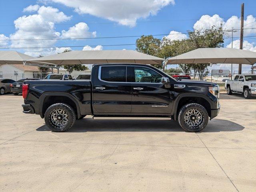
[[[45,124],[52,131],[64,132],[69,130],[76,120],[74,109],[64,103],[51,105],[44,114]]]

